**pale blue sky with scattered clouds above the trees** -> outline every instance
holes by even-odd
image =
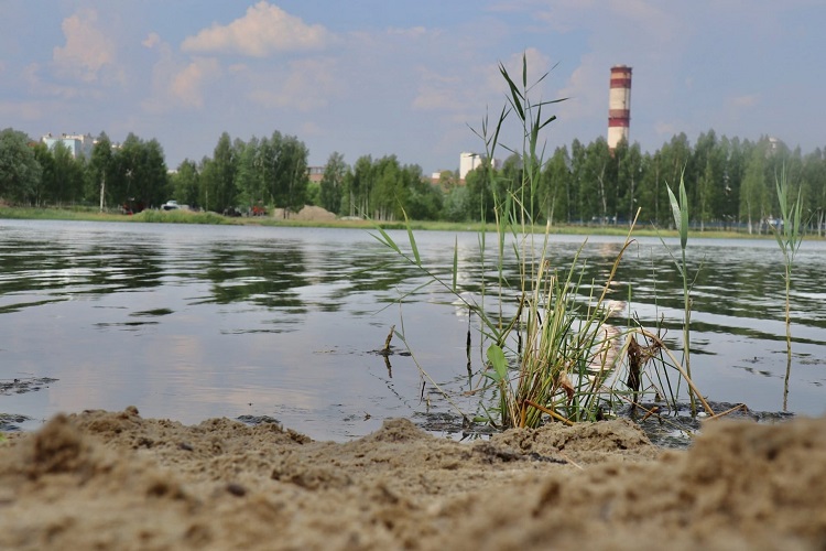
[[[633,67],[631,142],[674,134],[826,145],[823,0],[0,0],[0,128],[133,132],[166,164],[295,136],[309,164],[394,154],[425,174],[482,152],[499,64],[548,106],[548,151],[607,133],[610,67]],[[515,119],[506,145],[520,147]],[[498,155],[499,156],[499,155]],[[507,155],[503,155],[507,156]]]

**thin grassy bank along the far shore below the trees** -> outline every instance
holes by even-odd
[[[272,216],[263,217],[229,217],[217,213],[194,213],[188,210],[144,210],[137,215],[123,215],[120,213],[105,212],[100,213],[94,207],[73,207],[73,208],[35,208],[35,207],[10,207],[0,206],[0,218],[6,219],[25,219],[25,220],[84,220],[84,222],[120,222],[120,223],[162,223],[162,224],[211,224],[211,225],[235,225],[235,226],[284,226],[284,227],[322,227],[322,228],[365,228],[370,229],[373,223],[370,220],[294,220],[281,219]],[[480,223],[456,223],[456,222],[416,222],[410,223],[415,230],[434,230],[434,231],[479,231],[482,227]],[[406,229],[403,220],[383,223],[384,229]],[[492,225],[488,224],[491,229]],[[534,226],[533,230],[537,234],[544,233],[544,226]],[[580,225],[555,225],[551,228],[553,235],[601,235],[601,236],[622,236],[628,234],[626,225],[617,226],[580,226]],[[739,231],[720,231],[720,230],[695,230],[695,238],[746,238],[746,239],[773,239],[772,234],[746,234]],[[640,227],[639,224],[634,229],[634,236],[638,237],[677,237],[677,233],[671,229],[660,229],[653,227]],[[817,239],[816,235],[807,235],[806,239]]]

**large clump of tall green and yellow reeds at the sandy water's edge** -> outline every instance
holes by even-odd
[[[502,145],[521,156],[522,180],[511,187],[492,186],[497,276],[494,283],[481,282],[480,301],[477,303],[467,299],[457,285],[456,247],[449,281],[424,264],[406,215],[404,219],[409,248],[402,248],[380,226],[377,226],[379,233],[373,236],[427,274],[428,283],[436,282],[443,285],[478,316],[486,359],[486,367],[481,370],[480,388],[492,388],[497,393],[496,406],[488,409],[482,404],[483,417],[501,428],[536,426],[546,415],[565,423],[596,420],[601,417],[604,407],[610,408],[616,402],[632,400],[627,396],[631,392],[618,388],[617,377],[613,380],[609,380],[609,377],[618,372],[617,367],[628,355],[629,346],[633,346],[630,344],[631,341],[635,344],[634,336],[649,336],[641,328],[620,329],[609,323],[612,310],[607,306],[607,295],[622,256],[632,241],[633,224],[608,279],[602,282],[601,293],[595,295],[591,291],[587,298],[580,293],[585,263],[579,261],[587,239],[569,267],[556,267],[551,255],[550,224],[544,225],[544,233],[534,231],[534,201],[537,197],[537,185],[544,163],[544,143],[540,136],[555,119],[553,116],[543,116],[542,111],[548,105],[561,100],[533,102],[531,89],[547,74],[529,86],[528,63],[524,56],[522,62],[521,85],[518,85],[504,66],[500,65],[500,73],[508,85],[508,106],[502,109],[496,125],[489,126],[485,118],[481,130],[476,132],[485,143],[485,162],[490,163],[500,145],[499,137],[508,118],[517,117],[522,130],[520,148]],[[489,164],[485,169],[486,174],[494,174]],[[506,191],[497,194],[497,188]],[[480,261],[483,264],[483,225],[479,231],[479,246]],[[504,272],[506,257],[511,253],[515,256],[519,266],[518,282],[508,281]],[[487,269],[483,267],[481,271],[486,273]],[[593,282],[587,283],[590,289],[599,289],[591,285]],[[489,291],[491,285],[492,293]],[[508,290],[513,287],[518,291],[515,303],[506,305],[512,294]],[[492,307],[491,300],[494,301]],[[515,313],[512,315],[503,314],[513,310]],[[410,348],[403,331],[402,323],[399,335]],[[662,347],[664,345],[657,342],[656,348]],[[632,385],[629,385],[633,386],[633,399],[640,391],[643,364],[648,363],[654,353],[650,349],[643,352],[638,346],[634,354],[637,371]],[[419,366],[417,363],[416,365]],[[435,385],[422,367],[419,368]],[[449,400],[449,397],[446,398]]]

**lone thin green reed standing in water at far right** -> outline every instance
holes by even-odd
[[[780,203],[781,227],[772,226],[778,246],[783,253],[783,281],[785,282],[785,322],[786,322],[786,374],[783,385],[783,409],[786,409],[789,399],[789,377],[792,372],[792,318],[790,307],[790,295],[792,291],[792,267],[794,257],[803,242],[801,226],[802,203],[801,194],[797,192],[797,201],[789,204],[789,183],[786,170],[783,166],[780,177],[775,181],[778,203]]]

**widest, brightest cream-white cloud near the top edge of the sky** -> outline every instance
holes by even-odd
[[[214,24],[181,44],[184,52],[236,53],[265,57],[275,52],[318,50],[330,35],[319,24],[307,25],[278,6],[261,1],[228,25]]]

